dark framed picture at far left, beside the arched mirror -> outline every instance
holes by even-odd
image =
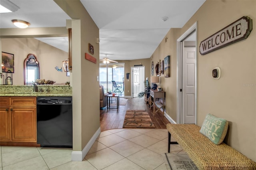
[[[2,52],[2,72],[14,73],[14,54]]]

